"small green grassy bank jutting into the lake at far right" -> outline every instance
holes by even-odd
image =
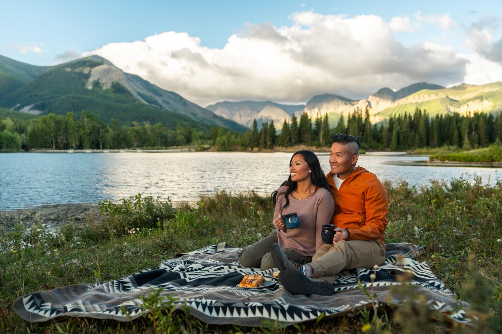
[[[489,147],[460,152],[440,152],[430,157],[431,161],[459,161],[459,162],[501,162],[502,145],[492,144]]]

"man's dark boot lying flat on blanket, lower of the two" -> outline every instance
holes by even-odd
[[[294,294],[330,296],[334,293],[333,284],[313,280],[298,270],[281,270],[279,273],[279,283],[286,290]]]

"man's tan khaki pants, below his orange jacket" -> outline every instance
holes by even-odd
[[[350,240],[321,246],[309,265],[314,269],[312,278],[333,283],[335,275],[343,269],[372,269],[384,261],[385,246],[380,241]]]

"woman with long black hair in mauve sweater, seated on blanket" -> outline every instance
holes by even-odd
[[[274,268],[269,252],[274,243],[278,243],[291,259],[303,259],[304,263],[309,263],[312,255],[324,244],[321,228],[330,223],[334,202],[319,159],[311,151],[298,151],[289,162],[289,173],[288,180],[271,195],[276,230],[242,249],[239,254],[241,266],[263,270]],[[300,227],[288,229],[281,215],[294,212],[298,215]]]

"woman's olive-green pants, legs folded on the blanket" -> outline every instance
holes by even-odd
[[[276,265],[270,255],[270,246],[278,243],[277,231],[273,231],[265,238],[258,240],[252,245],[245,246],[239,254],[239,263],[247,268],[262,268],[262,270],[275,268]],[[293,260],[304,259],[304,263],[312,261],[312,256],[305,256],[293,249],[283,249],[284,252]]]

